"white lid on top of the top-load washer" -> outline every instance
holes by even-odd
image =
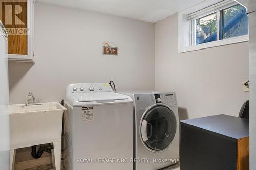
[[[79,102],[114,102],[116,100],[128,99],[128,96],[115,92],[98,92],[98,93],[75,93],[72,94]]]

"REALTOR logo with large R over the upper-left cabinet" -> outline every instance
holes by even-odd
[[[2,0],[1,21],[8,35],[28,35],[27,1]]]

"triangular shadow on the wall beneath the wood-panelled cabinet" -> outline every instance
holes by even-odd
[[[33,65],[33,63],[9,62],[9,91]]]

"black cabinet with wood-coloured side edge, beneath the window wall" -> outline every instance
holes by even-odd
[[[249,170],[248,119],[216,115],[181,121],[181,170]]]

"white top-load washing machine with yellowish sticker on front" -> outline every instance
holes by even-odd
[[[133,100],[107,83],[70,84],[64,114],[66,170],[131,170]]]

